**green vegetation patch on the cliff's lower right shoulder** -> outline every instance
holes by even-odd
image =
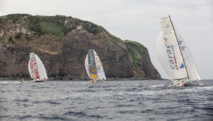
[[[123,42],[125,43],[128,51],[131,54],[133,64],[135,65],[135,67],[139,67],[141,64],[141,61],[143,60],[143,55],[147,51],[146,47],[134,41],[126,40]]]

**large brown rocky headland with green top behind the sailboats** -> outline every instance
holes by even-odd
[[[29,78],[27,65],[33,51],[43,61],[51,79],[88,79],[84,60],[91,48],[99,55],[107,78],[160,78],[144,46],[122,41],[91,22],[27,14],[0,18],[3,78]]]

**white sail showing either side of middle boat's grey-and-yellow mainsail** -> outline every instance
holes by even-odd
[[[101,60],[100,58],[98,57],[98,54],[94,51],[94,57],[95,57],[95,63],[96,63],[96,70],[97,70],[97,74],[98,74],[98,79],[99,80],[106,80],[106,76],[105,76],[105,73],[104,73],[104,69],[103,69],[103,65],[101,63]],[[88,66],[88,54],[86,55],[86,58],[85,58],[85,69],[86,69],[86,72],[87,72],[87,75],[90,77],[89,75],[89,66]]]

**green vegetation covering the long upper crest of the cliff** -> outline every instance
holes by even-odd
[[[25,38],[27,41],[33,38],[38,38],[42,35],[52,34],[58,37],[58,42],[61,42],[67,33],[76,29],[79,25],[83,26],[83,29],[94,35],[106,32],[110,38],[114,40],[121,40],[120,38],[110,34],[102,26],[98,26],[89,21],[83,21],[77,18],[61,15],[32,16],[29,14],[10,14],[0,17],[0,27],[7,29],[9,25],[6,24],[20,24],[21,26],[26,26],[26,28],[32,32],[30,35],[22,33],[22,35],[25,36],[22,39]],[[19,33],[21,34],[21,32]],[[12,36],[12,39],[16,40],[19,35]]]

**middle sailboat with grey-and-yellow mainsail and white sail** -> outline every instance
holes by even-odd
[[[88,54],[85,58],[85,69],[90,78],[90,82],[106,80],[103,65],[94,49],[88,50]]]

